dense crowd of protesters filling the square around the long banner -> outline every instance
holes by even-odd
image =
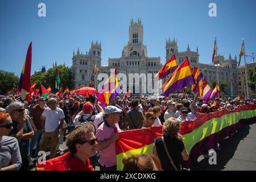
[[[39,151],[49,152],[47,159],[53,159],[63,151],[59,146],[65,142],[67,170],[94,170],[98,166],[101,171],[115,171],[118,133],[160,125],[163,137],[155,139],[153,154],[124,158],[123,169],[180,170],[181,159],[188,160],[179,134],[181,122],[191,121],[201,113],[255,104],[256,100],[238,98],[216,98],[209,105],[198,96],[185,100],[140,95],[114,98],[103,109],[96,96],[51,95],[33,97],[30,103],[20,102],[18,96],[2,97],[0,170],[29,170],[35,167]],[[76,166],[70,160],[77,161]]]

